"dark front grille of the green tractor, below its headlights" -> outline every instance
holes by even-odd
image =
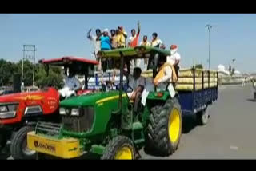
[[[80,108],[79,116],[66,113],[62,116],[62,123],[65,130],[78,133],[89,131],[94,123],[94,107]]]

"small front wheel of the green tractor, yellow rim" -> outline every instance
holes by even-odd
[[[106,145],[102,160],[134,160],[136,149],[129,137],[118,136]]]

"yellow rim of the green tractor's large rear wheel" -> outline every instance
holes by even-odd
[[[178,109],[174,108],[170,112],[169,117],[169,138],[172,143],[175,143],[178,140],[180,132],[180,118]]]

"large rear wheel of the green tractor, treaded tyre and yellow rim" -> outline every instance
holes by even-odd
[[[168,156],[178,149],[181,135],[182,110],[175,97],[151,109],[145,152]]]

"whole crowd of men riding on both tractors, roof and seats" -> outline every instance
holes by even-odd
[[[125,47],[136,47],[138,45],[142,46],[153,46],[165,49],[166,46],[163,44],[162,40],[158,38],[157,33],[152,34],[151,42],[148,41],[147,35],[143,35],[142,42],[138,44],[138,38],[141,33],[141,25],[138,22],[138,30],[136,32],[135,29],[130,31],[130,38],[127,38],[127,33],[124,30],[123,26],[118,26],[117,29],[109,30],[104,29],[103,31],[100,29],[96,29],[96,35],[91,35],[91,29],[87,33],[87,38],[90,39],[91,42],[94,43],[94,57],[98,60],[98,70],[104,72],[110,61],[101,61],[98,58],[97,54],[99,50],[114,50],[118,48],[125,48]],[[128,42],[126,44],[126,40]],[[172,45],[170,46],[170,56],[167,58],[160,58],[158,62],[158,74],[153,81],[146,82],[145,78],[142,78],[142,69],[139,67],[141,61],[134,60],[130,63],[130,69],[132,73],[125,70],[125,76],[127,80],[127,94],[130,97],[130,100],[134,101],[134,109],[138,108],[138,100],[141,100],[142,93],[145,93],[146,85],[154,85],[158,86],[161,89],[173,89],[170,82],[174,82],[177,80],[178,74],[178,64],[180,62],[180,54],[178,54],[178,46]],[[147,60],[144,60],[144,64],[147,64]],[[102,89],[105,91],[109,91],[115,89],[116,85],[114,85],[114,78],[115,78],[115,71],[113,73],[113,78],[111,81],[103,82],[102,80]],[[72,72],[70,76],[66,78],[66,83],[63,89],[59,91],[63,97],[70,97],[71,94],[74,94],[76,89],[81,88],[81,85],[78,84],[78,81],[75,80]],[[70,89],[70,90],[68,90]],[[130,89],[130,91],[128,90]],[[137,105],[136,105],[137,104]]]

